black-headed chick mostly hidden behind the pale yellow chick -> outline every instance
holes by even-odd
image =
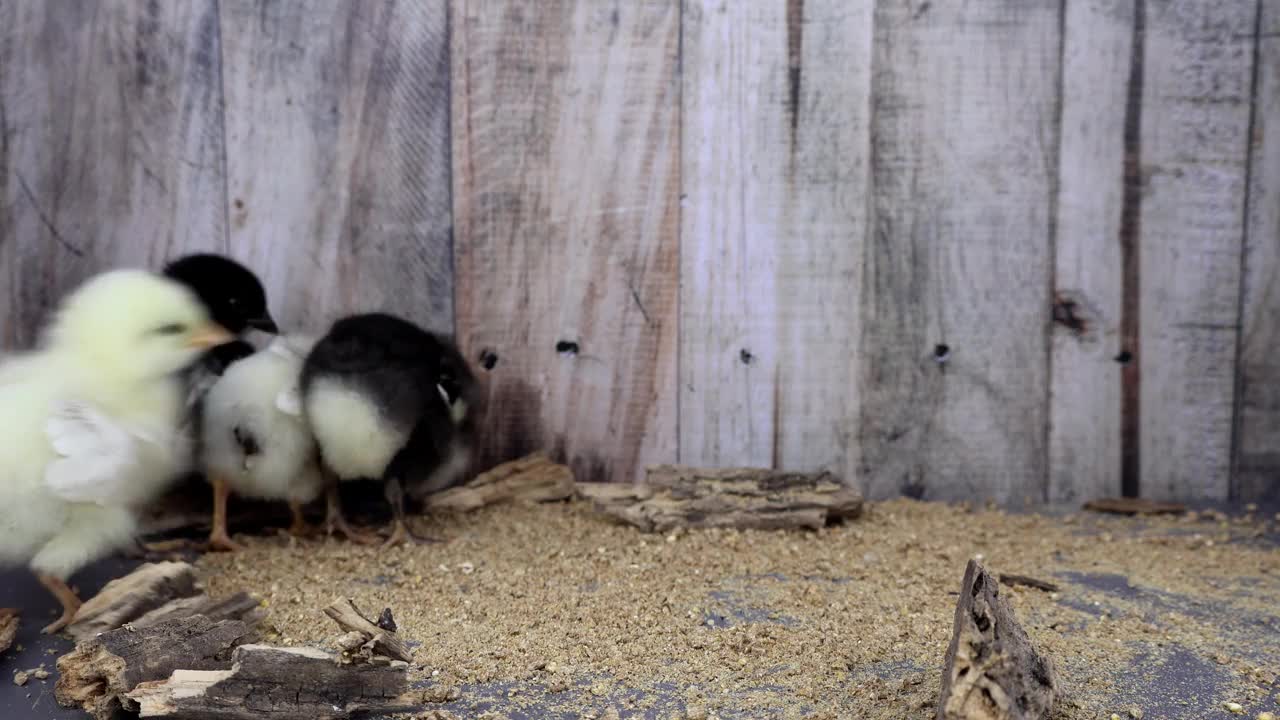
[[[252,270],[236,260],[211,252],[197,252],[170,261],[163,273],[196,293],[214,322],[233,334],[242,336],[250,328],[273,334],[279,332],[268,310],[262,282]],[[183,377],[187,402],[182,433],[192,443],[188,469],[193,469],[196,459],[200,457],[200,416],[205,393],[228,366],[253,352],[252,345],[236,340],[209,350],[187,368]]]

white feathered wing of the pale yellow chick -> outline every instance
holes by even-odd
[[[69,502],[110,505],[138,460],[138,441],[147,439],[78,401],[55,404],[45,434],[58,457],[45,469],[45,484]]]

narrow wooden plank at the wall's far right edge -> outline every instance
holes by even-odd
[[[1260,0],[1245,218],[1236,500],[1280,500],[1280,3]]]

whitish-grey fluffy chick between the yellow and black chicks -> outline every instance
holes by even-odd
[[[302,418],[298,378],[315,345],[278,337],[227,369],[204,401],[202,465],[214,488],[214,550],[239,550],[227,534],[227,496],[285,500],[289,532],[302,534],[302,506],[320,496],[323,475],[311,429]]]

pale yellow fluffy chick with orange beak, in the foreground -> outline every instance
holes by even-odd
[[[79,607],[67,579],[131,543],[134,512],[174,477],[177,373],[228,340],[187,288],[114,270],[0,364],[0,564],[26,564],[59,600],[46,633]]]

